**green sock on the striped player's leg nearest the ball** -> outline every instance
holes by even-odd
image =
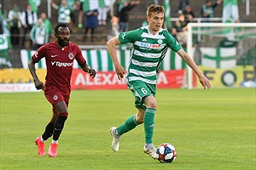
[[[155,109],[147,108],[144,116],[145,144],[152,144]]]

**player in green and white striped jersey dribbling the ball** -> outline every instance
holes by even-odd
[[[157,102],[154,98],[160,63],[166,55],[167,48],[171,48],[195,71],[204,89],[211,88],[211,84],[199,70],[195,61],[190,58],[177,40],[162,28],[165,8],[152,4],[147,10],[148,26],[137,30],[119,33],[107,42],[108,52],[113,60],[119,79],[125,77],[126,84],[135,98],[137,114],[128,117],[119,127],[111,127],[113,136],[112,149],[119,150],[119,139],[122,134],[131,131],[137,125],[144,123],[145,144],[143,151],[154,159],[158,158],[153,144],[154,115]],[[131,59],[127,73],[116,54],[116,46],[131,42]],[[125,76],[126,74],[126,76]]]

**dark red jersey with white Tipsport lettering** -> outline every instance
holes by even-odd
[[[36,62],[44,57],[47,67],[44,90],[54,88],[70,94],[73,60],[76,59],[79,65],[85,63],[79,46],[69,42],[68,46],[62,50],[56,42],[49,42],[32,55],[32,59]]]

